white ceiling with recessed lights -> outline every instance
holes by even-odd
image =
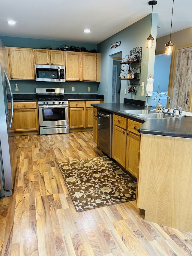
[[[152,12],[144,0],[1,1],[0,35],[98,44]],[[137,3],[137,4],[136,4]],[[157,37],[170,34],[173,2],[158,0]],[[192,1],[174,1],[172,33],[192,26]],[[16,21],[16,25],[7,24]],[[89,28],[90,33],[82,30]],[[150,29],[149,29],[150,32]],[[146,35],[149,36],[149,35]]]

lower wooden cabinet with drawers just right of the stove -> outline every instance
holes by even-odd
[[[93,107],[100,101],[70,101],[69,102],[69,128],[92,128]]]

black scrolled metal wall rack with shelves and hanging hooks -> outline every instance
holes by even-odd
[[[120,59],[119,79],[128,80],[128,93],[137,93],[140,85],[142,46],[130,51],[130,55]]]

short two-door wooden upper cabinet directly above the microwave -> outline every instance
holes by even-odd
[[[64,52],[55,50],[33,49],[35,64],[65,65]]]

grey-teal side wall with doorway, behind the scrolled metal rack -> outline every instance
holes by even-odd
[[[152,36],[154,37],[154,47],[151,49],[146,48],[146,41],[150,35],[152,22]],[[153,77],[154,63],[155,63],[155,45],[157,37],[157,22],[158,14],[153,13],[144,17],[142,20],[134,23],[133,25],[123,29],[110,38],[98,44],[98,52],[101,53],[101,83],[98,87],[98,94],[105,96],[105,102],[111,102],[111,85],[112,85],[112,66],[113,55],[122,52],[122,58],[130,54],[130,50],[133,48],[142,46],[142,62],[141,62],[141,76],[140,83],[146,83],[149,75]],[[121,41],[121,45],[110,49],[111,44]],[[121,80],[121,97],[120,102],[123,102],[124,98],[132,98],[137,100],[146,100],[145,96],[141,96],[141,85],[138,86],[137,94],[131,95],[128,93],[125,95],[125,88],[128,89],[128,80]],[[107,92],[106,92],[107,89]],[[144,93],[145,95],[145,93]],[[148,103],[151,103],[151,97],[148,99]]]

